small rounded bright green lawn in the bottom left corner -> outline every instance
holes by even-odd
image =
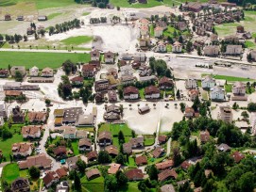
[[[2,179],[9,184],[20,176],[18,164],[8,164],[3,168]]]

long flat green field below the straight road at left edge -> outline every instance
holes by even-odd
[[[36,65],[39,69],[45,67],[60,68],[61,64],[70,59],[73,62],[88,62],[89,54],[64,54],[64,53],[36,53],[36,52],[0,52],[1,68],[8,69],[12,66],[23,65],[26,69]]]

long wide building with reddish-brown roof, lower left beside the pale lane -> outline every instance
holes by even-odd
[[[46,169],[52,167],[52,160],[47,157],[46,154],[42,153],[26,157],[26,160],[20,161],[18,166],[20,169],[26,169],[31,167]]]

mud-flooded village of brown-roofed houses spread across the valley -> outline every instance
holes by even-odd
[[[24,44],[0,48],[80,56],[59,67],[0,59],[1,191],[255,190],[256,38],[246,11],[215,1],[171,10],[94,9],[65,32],[39,15]],[[233,23],[232,34],[217,33]],[[82,49],[28,45],[80,33],[96,38]]]

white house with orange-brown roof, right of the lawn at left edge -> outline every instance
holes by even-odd
[[[13,156],[29,156],[33,151],[31,143],[13,143],[11,152]]]

